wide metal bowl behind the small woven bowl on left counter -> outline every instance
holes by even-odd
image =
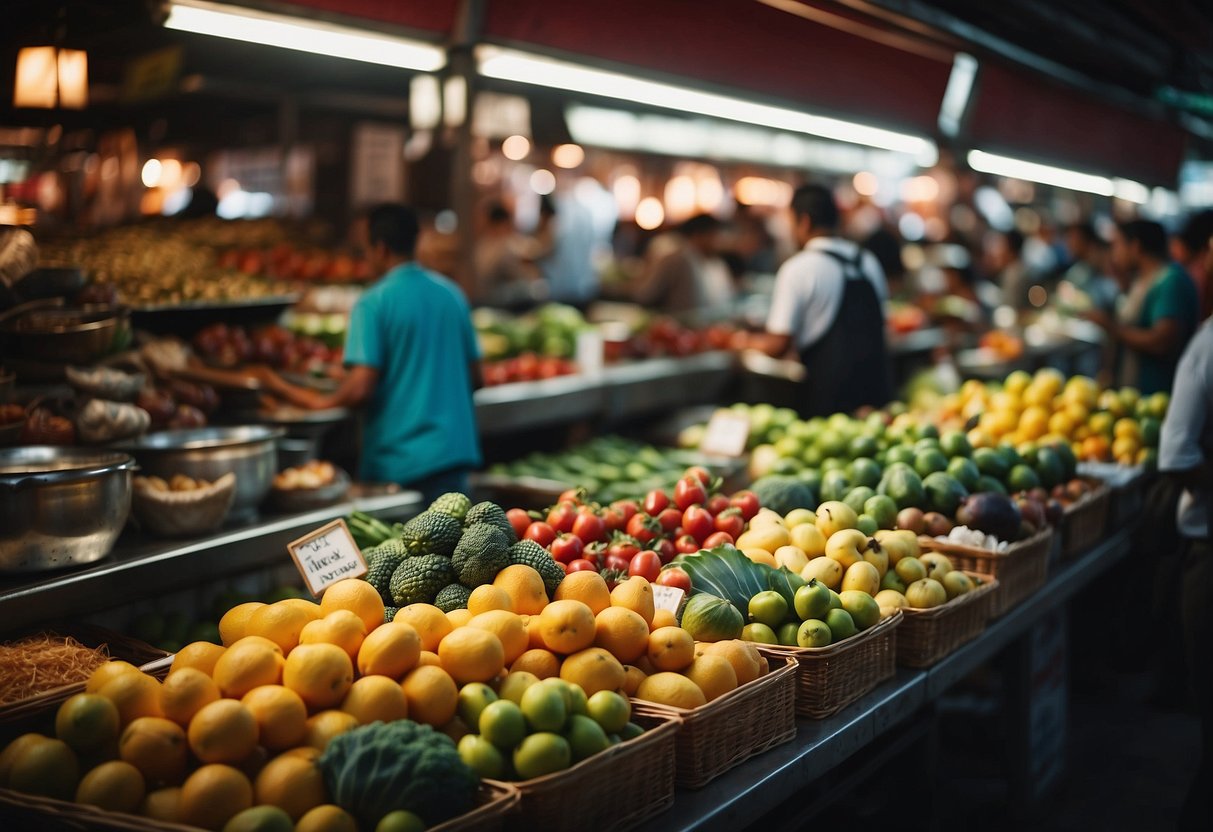
[[[278,439],[281,428],[261,424],[210,427],[188,431],[164,431],[118,443],[114,448],[129,452],[148,477],[171,479],[184,474],[215,481],[223,474],[235,474],[235,501],[230,518],[244,519],[273,484],[278,471]]]

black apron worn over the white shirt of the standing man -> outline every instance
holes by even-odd
[[[842,264],[843,294],[838,314],[825,335],[801,351],[808,377],[801,384],[801,412],[809,416],[849,414],[893,399],[893,374],[884,342],[884,310],[871,280],[864,277],[864,250],[853,258],[820,249]]]

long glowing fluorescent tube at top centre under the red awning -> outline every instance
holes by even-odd
[[[740,98],[701,92],[690,87],[647,81],[631,75],[592,69],[566,61],[547,58],[529,52],[480,46],[477,49],[480,74],[502,81],[533,84],[535,86],[570,92],[585,92],[604,98],[631,101],[650,107],[661,107],[683,113],[710,115],[729,121],[762,125],[810,136],[821,136],[839,142],[850,142],[884,150],[909,153],[919,164],[932,165],[936,159],[934,142],[919,136],[899,133],[881,127],[871,127],[853,121],[813,115],[782,107],[758,104]]]

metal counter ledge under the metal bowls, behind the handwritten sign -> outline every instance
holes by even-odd
[[[290,563],[286,543],[353,511],[392,520],[420,509],[420,494],[398,491],[357,497],[301,514],[270,515],[193,540],[155,540],[127,530],[109,557],[96,564],[0,576],[0,632],[112,609],[227,575]]]

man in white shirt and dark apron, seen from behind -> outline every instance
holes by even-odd
[[[893,398],[893,381],[881,263],[837,235],[838,205],[828,188],[797,188],[791,207],[803,250],[775,275],[767,332],[751,346],[774,357],[795,348],[808,371],[799,408],[804,416],[883,406]]]

